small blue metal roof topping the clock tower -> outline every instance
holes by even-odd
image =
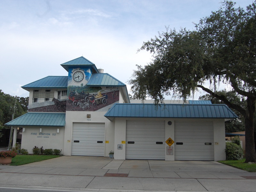
[[[94,72],[99,73],[98,69],[96,68],[95,64],[89,61],[88,59],[82,57],[78,57],[66,63],[60,64],[66,71],[68,71],[68,67],[76,67],[76,66],[91,66]]]

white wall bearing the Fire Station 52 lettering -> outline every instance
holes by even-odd
[[[64,127],[26,127],[25,131],[22,132],[21,148],[27,149],[28,153],[32,154],[32,149],[37,146],[44,149],[60,149],[63,154],[63,138],[64,138]],[[39,132],[42,128],[42,132]],[[57,133],[59,129],[59,133]]]

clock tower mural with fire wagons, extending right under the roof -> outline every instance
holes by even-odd
[[[67,111],[96,111],[119,100],[118,88],[87,86],[91,75],[91,67],[69,68]]]

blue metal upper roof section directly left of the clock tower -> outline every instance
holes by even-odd
[[[47,76],[32,83],[23,85],[22,88],[29,91],[30,88],[67,88],[68,76]]]

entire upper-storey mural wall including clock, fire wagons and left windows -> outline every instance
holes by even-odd
[[[108,111],[108,105],[119,101],[119,88],[87,86],[91,75],[92,67],[69,68],[67,91],[58,91],[58,97],[55,98],[57,90],[34,90],[33,103],[29,105],[28,111]],[[63,92],[65,94],[61,95]]]

